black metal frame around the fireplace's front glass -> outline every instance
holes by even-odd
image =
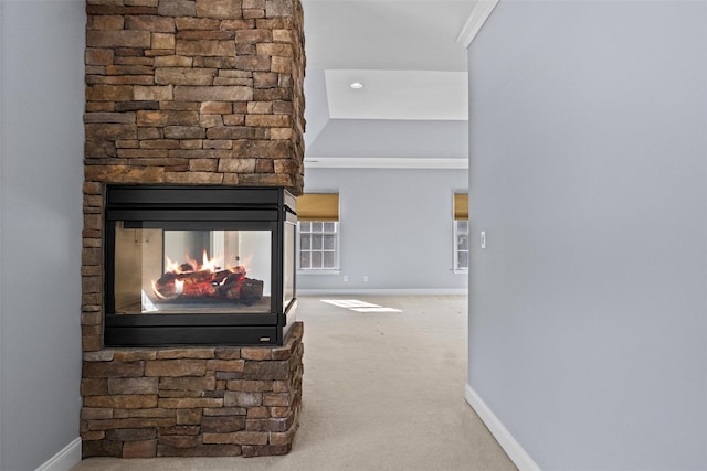
[[[270,231],[271,308],[267,313],[117,314],[115,224]],[[296,224],[296,200],[277,186],[107,185],[105,194],[105,346],[282,345],[294,323],[296,280],[285,300],[285,225]],[[291,240],[294,256],[294,237]]]

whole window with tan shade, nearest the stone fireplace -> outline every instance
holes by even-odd
[[[339,195],[308,193],[297,197],[297,268],[339,269]]]

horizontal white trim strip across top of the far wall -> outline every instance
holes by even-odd
[[[468,169],[468,159],[404,157],[305,157],[306,169]]]

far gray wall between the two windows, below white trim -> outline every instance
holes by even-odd
[[[305,192],[339,193],[341,272],[299,275],[297,290],[465,291],[452,200],[467,184],[466,170],[307,169]]]

